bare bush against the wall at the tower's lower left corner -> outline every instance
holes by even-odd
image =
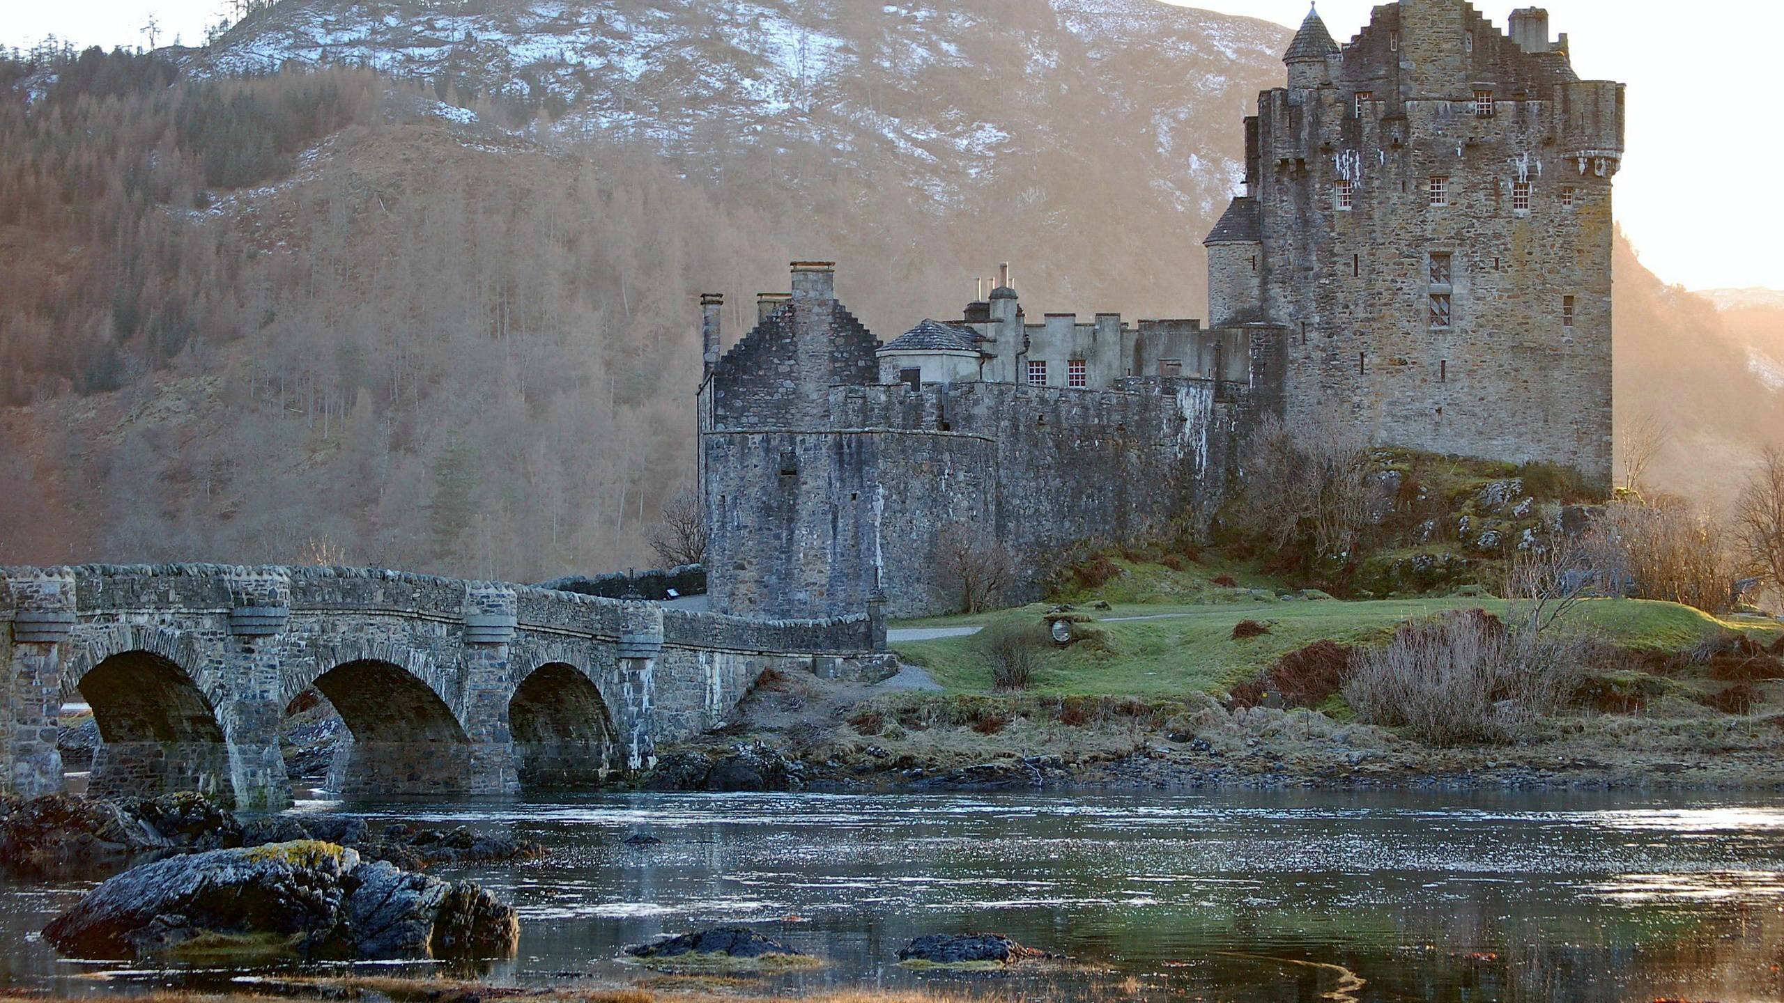
[[[1368,452],[1336,423],[1290,428],[1267,418],[1245,441],[1233,528],[1277,551],[1345,559],[1368,523]]]

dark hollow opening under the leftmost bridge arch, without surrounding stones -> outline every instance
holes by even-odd
[[[121,651],[93,666],[75,689],[100,732],[87,792],[116,798],[198,791],[235,803],[228,741],[216,709],[186,669],[150,651]]]

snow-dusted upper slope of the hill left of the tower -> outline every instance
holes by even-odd
[[[1015,25],[1004,11],[985,0],[284,0],[194,54],[187,71],[359,64],[428,80],[460,104],[542,104],[566,139],[696,155],[719,141],[810,145],[908,171],[937,209],[969,198],[1001,159],[1094,143],[1092,123],[1049,107],[1072,95],[1113,109],[1106,125],[1124,143],[1149,145],[1151,184],[1176,209],[1218,216],[1240,173],[1238,120],[1283,73],[1286,29],[1158,0],[1051,0]]]

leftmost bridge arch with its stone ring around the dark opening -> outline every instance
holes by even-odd
[[[198,791],[225,805],[237,801],[218,714],[228,694],[193,669],[205,664],[196,644],[173,630],[111,628],[80,646],[64,676],[64,698],[78,694],[100,732],[89,792]]]

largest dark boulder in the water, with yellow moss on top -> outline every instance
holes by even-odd
[[[232,948],[294,958],[462,958],[512,955],[519,919],[473,883],[303,841],[145,864],[87,892],[43,933],[80,958]]]

